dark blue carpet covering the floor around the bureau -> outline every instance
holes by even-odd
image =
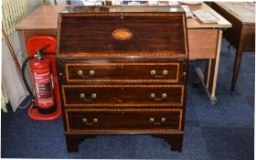
[[[68,154],[62,118],[35,122],[27,109],[2,112],[1,156],[3,158],[122,158],[182,160],[251,160],[254,152],[255,55],[245,53],[235,93],[229,94],[235,49],[221,48],[217,97],[212,105],[202,86],[193,88],[197,75],[190,63],[183,151],[171,152],[168,144],[149,135],[98,136],[80,144],[79,153]]]

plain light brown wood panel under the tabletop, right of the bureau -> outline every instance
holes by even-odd
[[[189,59],[215,59],[218,29],[188,29]]]

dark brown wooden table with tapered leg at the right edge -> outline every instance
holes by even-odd
[[[240,70],[242,52],[255,52],[255,4],[252,2],[219,2],[211,3],[211,7],[227,18],[233,26],[223,33],[223,37],[237,49],[231,84],[231,92],[233,92]]]

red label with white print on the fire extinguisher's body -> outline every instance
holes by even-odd
[[[44,108],[54,105],[52,94],[52,75],[49,69],[34,72],[34,80],[37,93],[37,105]]]

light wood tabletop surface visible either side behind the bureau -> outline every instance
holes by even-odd
[[[67,5],[41,5],[30,15],[16,25],[16,29],[57,29],[59,13]],[[220,16],[208,5],[188,5],[191,11],[205,10],[219,18],[218,23],[204,24],[194,18],[187,18],[187,28],[212,28],[212,27],[231,27],[229,21]],[[141,5],[138,7],[142,7]],[[169,7],[169,6],[168,6]],[[170,8],[170,7],[169,7]]]

